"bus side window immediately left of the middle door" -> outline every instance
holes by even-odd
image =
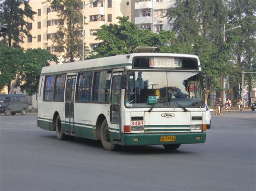
[[[54,101],[64,101],[65,80],[65,74],[56,76],[54,88]]]

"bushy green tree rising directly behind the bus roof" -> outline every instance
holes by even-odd
[[[96,33],[100,43],[91,52],[89,59],[129,54],[138,46],[156,46],[159,49],[174,39],[174,33],[160,31],[158,34],[149,30],[139,30],[127,17],[118,17],[118,24],[103,25]]]

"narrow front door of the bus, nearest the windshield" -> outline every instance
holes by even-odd
[[[110,139],[120,140],[120,98],[121,76],[123,72],[114,72],[111,86],[110,102]]]

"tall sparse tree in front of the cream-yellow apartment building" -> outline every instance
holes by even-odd
[[[58,31],[53,43],[64,47],[64,58],[68,62],[82,58],[82,30],[83,30],[83,3],[81,0],[48,0],[51,8],[57,10],[62,20],[58,24]],[[64,23],[64,24],[63,24]],[[86,50],[86,48],[85,48]]]

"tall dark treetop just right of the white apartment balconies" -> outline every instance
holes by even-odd
[[[199,36],[215,44],[222,42],[221,29],[227,19],[222,0],[178,0],[174,8],[166,10],[166,17],[174,19],[179,43],[194,44]]]

